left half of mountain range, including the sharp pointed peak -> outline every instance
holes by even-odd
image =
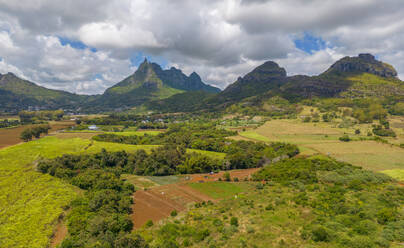
[[[188,91],[216,93],[220,89],[203,83],[195,72],[187,76],[174,67],[163,70],[147,60],[134,74],[96,96],[47,89],[8,73],[0,74],[0,112],[58,108],[81,112],[125,110]]]

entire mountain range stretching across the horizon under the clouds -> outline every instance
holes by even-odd
[[[97,96],[82,96],[40,87],[15,75],[0,75],[0,111],[29,107],[76,109],[85,112],[140,107],[158,112],[219,110],[231,105],[264,106],[274,96],[297,102],[312,98],[404,97],[404,82],[389,64],[371,54],[344,57],[317,76],[287,76],[273,61],[239,77],[225,90],[186,76],[174,67],[163,70],[145,60],[137,71]]]

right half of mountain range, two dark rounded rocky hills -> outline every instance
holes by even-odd
[[[176,100],[179,103],[183,102],[180,97],[189,98],[187,94],[178,95]],[[282,109],[286,106],[285,103],[293,104],[304,99],[364,97],[404,100],[404,82],[397,78],[396,70],[393,66],[376,60],[371,54],[344,57],[318,76],[287,76],[284,68],[268,61],[244,77],[239,77],[222,92],[204,96],[204,99],[200,97],[199,104],[190,106],[194,111],[220,111],[232,105],[241,108],[252,106],[265,112]],[[159,101],[154,109],[161,110],[161,106],[166,105],[172,106],[172,111],[178,111],[179,105],[174,106],[172,100],[170,104],[166,104],[166,100]],[[290,106],[286,109],[288,112]],[[165,111],[169,112],[170,109],[166,108]]]

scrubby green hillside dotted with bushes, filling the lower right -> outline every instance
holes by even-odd
[[[404,241],[404,189],[386,175],[313,157],[267,166],[254,179],[260,182],[238,183],[244,192],[196,204],[179,218],[136,233],[150,247],[360,248]],[[210,191],[222,187],[198,187],[204,185]]]

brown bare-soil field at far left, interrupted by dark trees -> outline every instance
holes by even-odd
[[[50,133],[57,130],[65,129],[67,127],[73,126],[72,121],[61,121],[61,122],[50,122],[49,125],[51,129]],[[33,127],[35,125],[24,125],[15,128],[2,128],[0,129],[0,149],[21,143],[20,134],[24,129]]]

